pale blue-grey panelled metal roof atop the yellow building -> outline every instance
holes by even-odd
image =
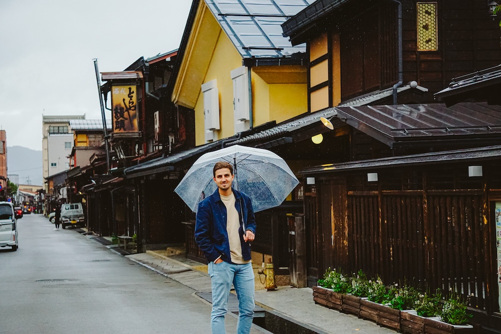
[[[314,0],[205,0],[242,58],[284,58],[305,53],[293,47],[281,25]]]

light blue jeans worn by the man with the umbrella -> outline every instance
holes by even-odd
[[[225,261],[209,262],[208,273],[212,286],[212,334],[224,334],[224,314],[228,309],[231,283],[238,297],[237,334],[248,334],[254,316],[254,271],[252,263],[232,264]]]

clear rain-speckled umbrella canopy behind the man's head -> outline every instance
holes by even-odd
[[[193,212],[217,188],[212,169],[218,161],[233,165],[233,187],[250,197],[255,212],[282,204],[299,184],[284,159],[275,153],[239,145],[226,147],[198,158],[174,190]]]

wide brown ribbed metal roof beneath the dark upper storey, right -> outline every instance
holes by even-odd
[[[418,137],[501,134],[501,106],[459,103],[396,106],[335,107],[337,117],[356,129],[393,147]],[[436,139],[436,138],[435,138]]]

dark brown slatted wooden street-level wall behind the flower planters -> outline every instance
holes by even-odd
[[[501,160],[476,163],[483,177],[468,177],[465,163],[377,169],[377,182],[367,181],[375,170],[317,174],[306,202],[320,240],[307,250],[309,274],[362,269],[386,283],[452,289],[469,298],[474,322],[501,328],[493,217]]]

